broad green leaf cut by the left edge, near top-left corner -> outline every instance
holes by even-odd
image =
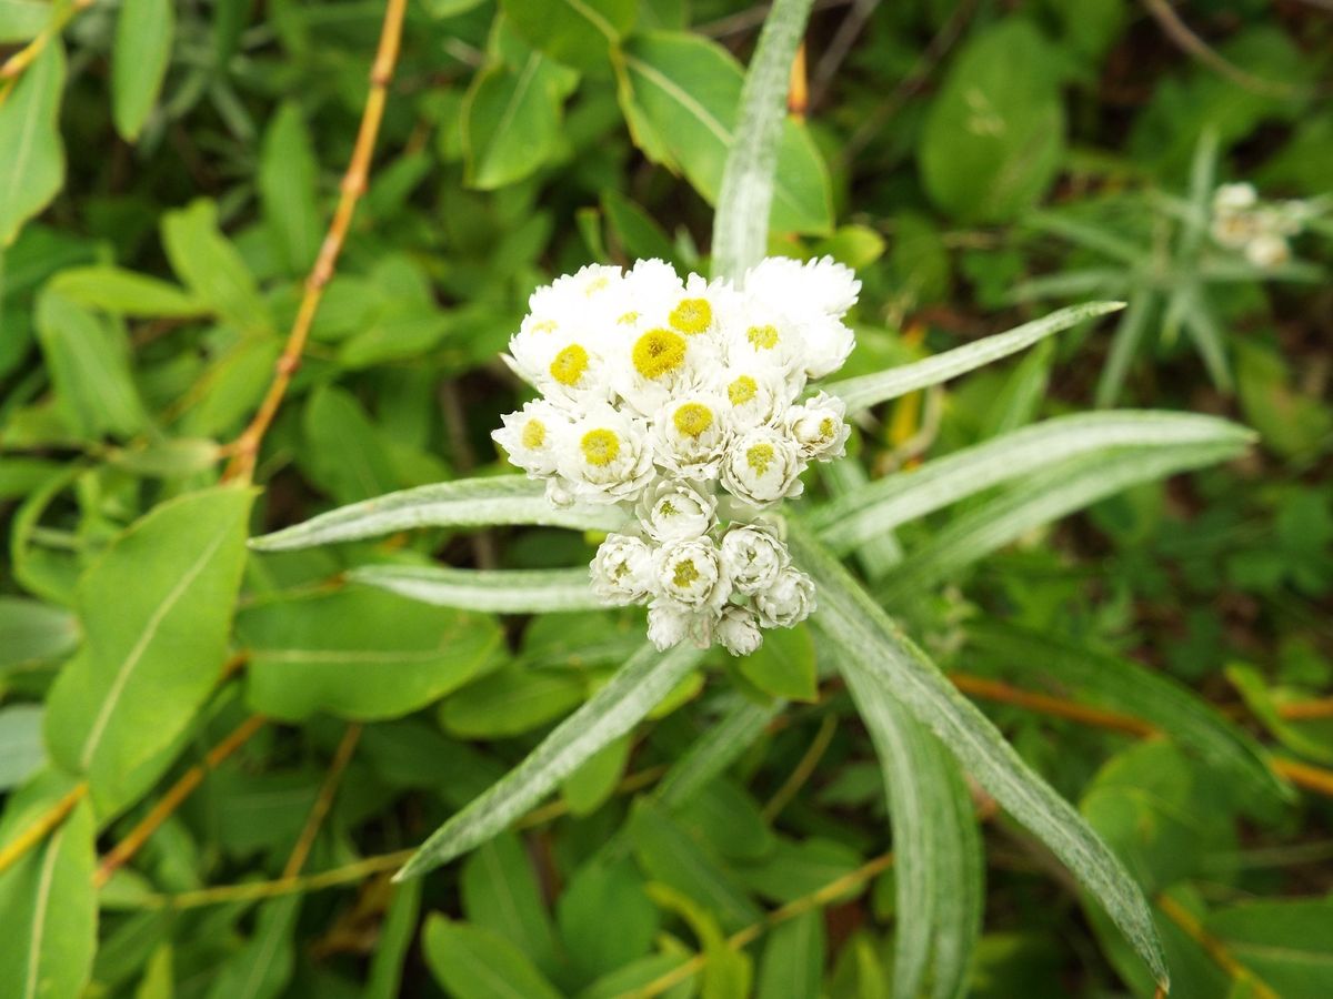
[[[56,196],[65,182],[60,140],[60,99],[65,51],[59,40],[43,48],[0,104],[0,249]]]

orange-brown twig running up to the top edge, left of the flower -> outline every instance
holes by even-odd
[[[333,221],[329,222],[328,233],[320,245],[319,257],[305,278],[305,290],[301,294],[300,308],[292,321],[292,329],[287,336],[287,345],[277,358],[273,382],[260,402],[259,410],[249,426],[232,444],[232,460],[223,473],[223,481],[240,480],[248,482],[255,473],[255,461],[259,456],[264,434],[268,433],[277,409],[283,404],[292,377],[301,365],[301,354],[305,350],[305,341],[315,322],[315,313],[320,308],[324,297],[324,288],[333,277],[333,268],[337,265],[339,254],[343,252],[343,242],[347,240],[348,229],[352,225],[352,216],[356,205],[365,193],[371,172],[371,156],[375,152],[375,140],[380,133],[380,123],[384,120],[384,107],[388,101],[389,81],[393,79],[393,68],[397,64],[399,48],[403,40],[403,17],[407,9],[407,0],[388,0],[384,9],[384,25],[380,31],[380,44],[375,53],[375,63],[371,65],[371,91],[365,99],[365,109],[361,113],[361,127],[356,133],[356,147],[352,149],[352,160],[340,185],[337,208],[333,212]]]

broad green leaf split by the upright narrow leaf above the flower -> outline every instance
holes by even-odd
[[[709,202],[721,192],[741,80],[736,60],[696,35],[651,32],[625,47],[621,105],[635,141],[649,159],[684,172]],[[825,234],[832,214],[828,168],[805,128],[788,121],[769,224],[774,232]]]

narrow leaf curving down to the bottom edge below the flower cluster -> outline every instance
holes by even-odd
[[[957,763],[865,670],[844,669],[884,771],[896,876],[893,994],[960,995],[981,934],[981,840]]]

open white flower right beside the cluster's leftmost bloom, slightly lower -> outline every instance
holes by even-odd
[[[603,404],[576,420],[557,461],[576,498],[615,503],[637,500],[653,478],[653,454],[641,420]]]

